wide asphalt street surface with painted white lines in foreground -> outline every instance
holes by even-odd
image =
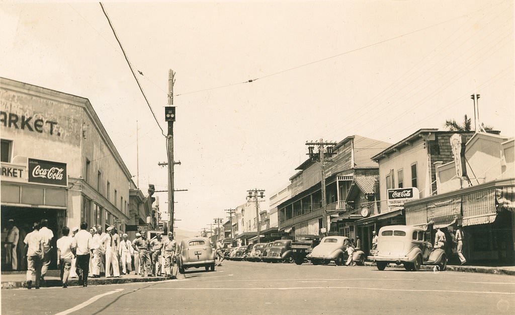
[[[515,277],[225,261],[178,279],[3,290],[4,314],[515,313]]]

